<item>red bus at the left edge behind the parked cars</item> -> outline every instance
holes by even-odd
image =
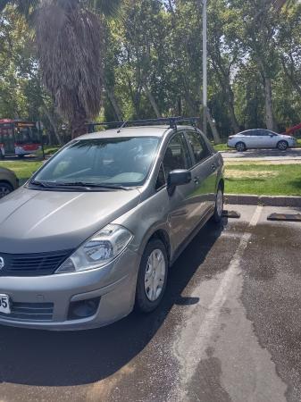
[[[30,155],[41,149],[36,124],[31,121],[0,120],[0,158]]]

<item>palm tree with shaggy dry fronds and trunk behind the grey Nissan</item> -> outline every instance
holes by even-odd
[[[72,138],[85,133],[102,100],[102,19],[121,0],[0,0],[27,18],[35,31],[44,85]]]

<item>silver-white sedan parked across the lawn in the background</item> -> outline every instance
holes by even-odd
[[[295,138],[263,129],[246,130],[230,136],[228,147],[244,152],[250,148],[278,148],[286,151],[288,147],[296,147]]]

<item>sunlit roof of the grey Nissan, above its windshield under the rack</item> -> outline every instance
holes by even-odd
[[[85,134],[76,139],[95,139],[95,138],[130,138],[130,137],[158,137],[162,138],[171,132],[170,126],[136,126],[125,127],[123,129],[110,129],[96,131]],[[192,126],[178,126],[178,130],[194,130]]]

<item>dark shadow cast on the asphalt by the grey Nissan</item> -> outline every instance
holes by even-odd
[[[152,314],[132,313],[120,322],[93,331],[52,332],[0,326],[0,383],[72,386],[100,381],[137,356],[155,336],[171,307],[191,306],[197,297],[181,297],[200,264],[221,236],[208,222],[171,267],[162,306]],[[189,264],[188,264],[189,262]],[[208,280],[221,267],[205,272]]]

